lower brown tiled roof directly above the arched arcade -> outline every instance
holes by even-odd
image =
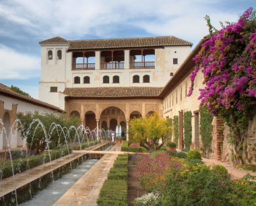
[[[150,87],[65,88],[63,94],[77,98],[157,98],[162,89]]]

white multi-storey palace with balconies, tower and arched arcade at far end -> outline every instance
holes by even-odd
[[[39,98],[90,129],[129,130],[129,120],[162,114],[160,93],[190,53],[174,36],[43,40]],[[127,137],[128,139],[128,137]]]

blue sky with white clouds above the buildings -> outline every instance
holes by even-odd
[[[195,46],[212,24],[236,22],[255,0],[0,0],[0,83],[38,98],[40,45],[67,40],[177,36]]]

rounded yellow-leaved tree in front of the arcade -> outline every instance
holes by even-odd
[[[133,118],[129,123],[129,135],[148,151],[160,149],[171,129],[168,119],[160,118],[158,113]]]

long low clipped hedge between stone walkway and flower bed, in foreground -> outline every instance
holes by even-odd
[[[100,189],[97,199],[99,206],[127,205],[127,165],[128,154],[119,155]]]

